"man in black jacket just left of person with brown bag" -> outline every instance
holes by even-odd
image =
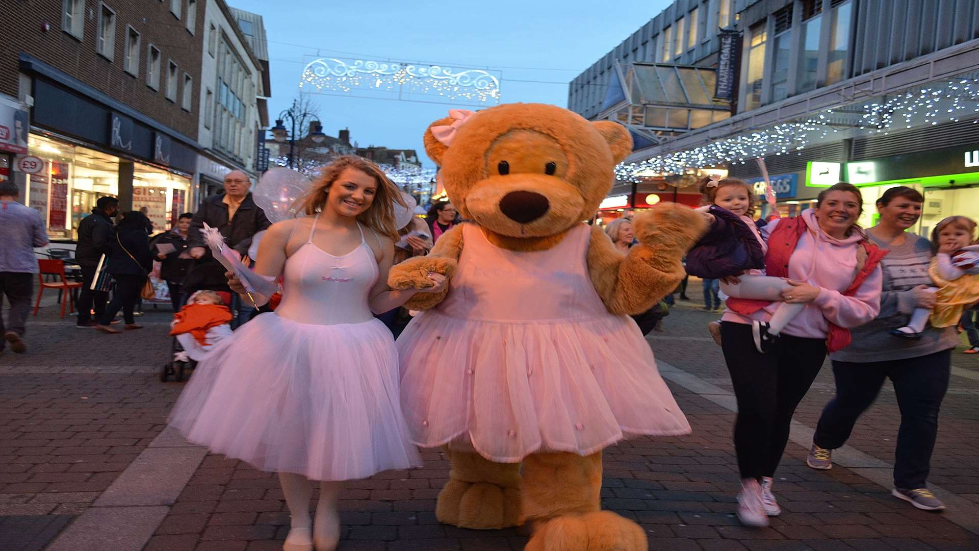
[[[119,210],[119,201],[115,197],[99,197],[92,209],[92,214],[81,219],[78,223],[78,245],[74,249],[74,261],[81,267],[82,284],[78,292],[78,321],[79,327],[97,326],[92,321],[91,311],[95,310],[96,318],[102,318],[109,302],[109,293],[90,290],[95,269],[102,255],[112,252],[113,217]]]

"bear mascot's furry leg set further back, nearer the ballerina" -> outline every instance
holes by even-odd
[[[519,463],[492,463],[447,448],[445,455],[452,470],[436,504],[440,523],[475,529],[521,524]]]

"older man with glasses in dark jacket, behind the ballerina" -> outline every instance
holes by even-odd
[[[227,246],[243,257],[252,246],[252,237],[272,225],[252,200],[251,187],[248,175],[231,171],[224,176],[224,193],[211,195],[201,203],[187,236],[190,256],[196,262],[184,280],[185,294],[198,289],[228,290],[224,267],[210,255],[200,231],[205,223],[218,228]]]

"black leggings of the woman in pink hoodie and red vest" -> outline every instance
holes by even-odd
[[[742,478],[774,476],[789,440],[792,414],[826,357],[825,339],[783,334],[768,354],[761,354],[751,326],[723,322],[721,341],[737,398],[738,470]]]

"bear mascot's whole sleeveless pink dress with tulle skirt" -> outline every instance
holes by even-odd
[[[639,327],[609,314],[591,283],[588,225],[536,252],[500,249],[477,225],[462,232],[445,300],[397,340],[416,444],[516,463],[690,431]]]

